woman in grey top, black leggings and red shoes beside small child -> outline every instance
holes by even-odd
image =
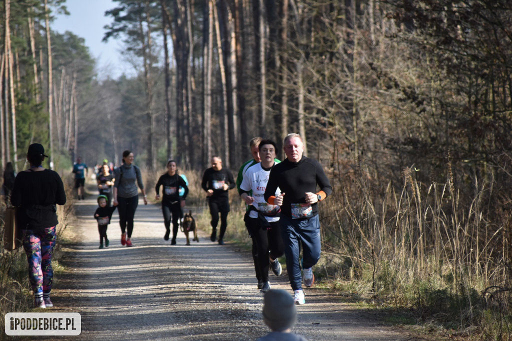
[[[123,164],[114,171],[114,206],[119,212],[119,225],[121,226],[121,245],[133,246],[132,232],[135,210],[139,205],[137,185],[142,192],[144,205],[147,205],[147,196],[140,175],[140,168],[133,164],[133,153],[123,152]]]

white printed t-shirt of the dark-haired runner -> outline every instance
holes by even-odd
[[[280,207],[278,205],[270,205],[263,198],[265,188],[267,188],[269,175],[270,171],[265,171],[265,169],[261,167],[261,162],[257,163],[247,169],[242,183],[240,184],[240,188],[245,191],[250,191],[252,189],[252,197],[254,198],[252,205],[259,211],[271,214],[272,212],[279,211]],[[275,195],[279,194],[281,194],[281,189],[278,187],[275,190]],[[258,212],[251,210],[249,212],[249,217],[258,218]],[[267,219],[268,222],[274,222],[278,221],[279,217],[265,217],[265,219]]]

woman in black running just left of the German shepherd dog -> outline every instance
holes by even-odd
[[[167,161],[167,173],[162,174],[155,185],[156,200],[160,200],[160,186],[163,186],[162,214],[165,225],[164,240],[169,240],[170,215],[173,215],[173,239],[170,241],[170,245],[176,245],[178,220],[182,216],[181,209],[185,206],[185,198],[188,195],[187,184],[177,171],[178,166],[176,161]],[[183,188],[183,195],[180,194],[180,188]]]

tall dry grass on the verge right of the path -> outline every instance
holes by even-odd
[[[425,185],[411,172],[400,190],[368,179],[335,188],[321,205],[317,278],[346,281],[341,289],[361,300],[413,309],[419,321],[446,330],[510,339],[506,225],[489,205],[495,184],[475,180],[468,197],[452,177]]]

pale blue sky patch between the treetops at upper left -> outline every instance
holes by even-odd
[[[111,0],[67,0],[66,7],[70,15],[56,15],[51,28],[59,33],[71,31],[86,40],[85,45],[97,62],[98,78],[117,78],[123,73],[133,75],[133,68],[120,53],[123,49],[121,40],[101,41],[105,33],[103,26],[113,20],[104,16],[105,11],[115,8],[116,3]]]

